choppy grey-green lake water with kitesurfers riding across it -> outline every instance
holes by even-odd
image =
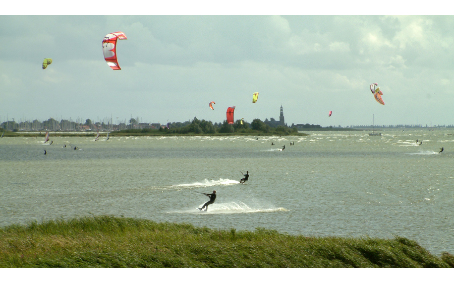
[[[307,133],[97,142],[51,135],[52,145],[3,137],[0,226],[111,215],[304,236],[403,236],[435,255],[454,253],[451,131]],[[244,185],[240,170],[249,170]],[[200,192],[212,190],[216,201],[200,212],[208,200]]]

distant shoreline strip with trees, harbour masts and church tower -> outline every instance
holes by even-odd
[[[118,122],[114,124],[112,122],[112,118],[104,118],[101,121],[94,122],[91,119],[86,119],[85,121],[81,119],[77,119],[73,121],[71,119],[61,119],[60,121],[55,120],[54,118],[49,118],[45,121],[39,121],[37,119],[31,121],[15,121],[12,119],[11,121],[5,121],[0,123],[0,128],[3,130],[9,131],[119,131],[119,130],[159,130],[159,129],[169,129],[169,128],[181,128],[181,127],[188,127],[191,124],[199,124],[200,120],[196,117],[192,121],[185,121],[185,122],[170,122],[166,124],[161,123],[143,123],[139,122],[139,117],[131,118],[128,123],[126,120]],[[204,121],[203,123],[211,124],[210,126],[213,128],[211,131],[219,131],[222,127],[225,127],[226,121],[223,123],[212,123],[211,121]],[[280,113],[279,119],[276,120],[274,118],[266,118],[264,121],[259,119],[254,119],[252,123],[247,123],[242,120],[237,120],[235,124],[238,124],[237,127],[241,128],[254,128],[255,127],[262,127],[260,124],[264,124],[269,128],[291,128],[295,130],[368,130],[368,129],[376,129],[376,130],[383,130],[383,129],[444,129],[444,128],[454,128],[454,125],[422,125],[422,124],[396,124],[396,125],[349,125],[349,126],[327,126],[322,127],[320,125],[314,124],[294,124],[288,125],[285,122],[285,117],[283,115],[282,105],[280,106]],[[240,126],[241,125],[241,126]],[[235,125],[234,125],[235,127]],[[226,129],[226,131],[230,131],[230,129]],[[202,130],[202,132],[205,132]],[[209,133],[209,132],[207,132]]]

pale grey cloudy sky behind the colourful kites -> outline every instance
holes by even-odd
[[[173,4],[127,6],[127,16],[96,5],[88,15],[10,7],[0,15],[0,121],[215,123],[236,106],[235,120],[252,122],[278,120],[282,105],[289,126],[370,125],[373,116],[375,125],[454,124],[453,16],[391,16],[404,13],[383,7],[324,15],[323,5],[313,13],[257,14],[250,6],[199,13]],[[112,70],[102,39],[117,31],[128,39],[117,43],[122,69]],[[44,58],[52,58],[46,69]]]

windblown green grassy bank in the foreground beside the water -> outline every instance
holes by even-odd
[[[454,256],[433,256],[406,238],[312,238],[114,217],[0,233],[0,267],[454,267]]]

